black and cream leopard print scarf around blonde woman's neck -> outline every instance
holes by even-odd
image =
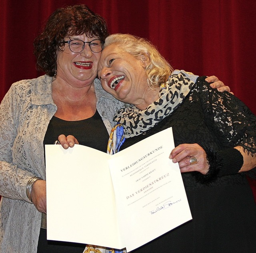
[[[174,70],[164,88],[160,89],[159,99],[145,110],[139,110],[135,105],[121,108],[113,120],[123,125],[124,137],[139,135],[170,115],[188,95],[197,77],[184,70]]]

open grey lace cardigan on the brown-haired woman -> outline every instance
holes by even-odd
[[[32,176],[45,179],[43,140],[57,107],[52,77],[14,83],[0,105],[0,253],[36,253],[41,213],[28,200]],[[97,109],[110,132],[114,113],[124,104],[94,81]]]

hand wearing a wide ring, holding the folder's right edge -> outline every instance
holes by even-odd
[[[169,156],[172,162],[179,163],[180,172],[198,171],[206,174],[209,165],[204,149],[198,144],[180,144],[174,148]]]

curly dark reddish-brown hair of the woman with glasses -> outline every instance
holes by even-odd
[[[84,4],[57,9],[34,40],[36,68],[53,77],[56,70],[56,53],[62,50],[64,38],[82,34],[104,41],[108,36],[106,21]]]

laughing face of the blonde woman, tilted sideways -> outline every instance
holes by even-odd
[[[103,89],[139,109],[148,106],[152,90],[148,87],[145,72],[147,62],[145,55],[134,57],[117,44],[108,45],[103,49],[98,65],[98,77]],[[154,92],[154,97],[156,93],[158,91]]]

